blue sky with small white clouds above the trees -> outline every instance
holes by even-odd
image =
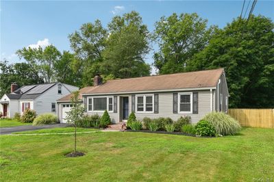
[[[132,10],[140,13],[150,31],[161,16],[173,12],[197,12],[208,19],[208,25],[224,27],[240,15],[243,1],[1,1],[1,60],[21,62],[14,53],[29,45],[53,44],[60,51],[71,50],[68,35],[83,23],[99,19],[107,25],[113,16]],[[253,14],[273,20],[274,1],[258,0]],[[146,57],[148,63],[153,62],[152,53]]]

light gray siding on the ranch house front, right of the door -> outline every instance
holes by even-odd
[[[197,91],[195,91],[197,92]],[[198,114],[173,114],[173,92],[164,92],[159,94],[159,113],[138,113],[136,112],[136,118],[142,120],[144,117],[159,118],[169,117],[173,120],[177,120],[181,116],[190,116],[192,123],[197,123],[203,116],[211,112],[210,109],[210,90],[198,91]],[[131,103],[131,97],[129,97],[129,103]],[[129,112],[131,112],[131,105],[129,105]]]

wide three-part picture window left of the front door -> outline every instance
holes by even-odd
[[[113,96],[88,97],[88,112],[113,112]]]

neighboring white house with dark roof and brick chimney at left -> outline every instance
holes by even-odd
[[[8,118],[16,112],[22,114],[26,108],[34,109],[36,114],[56,113],[56,101],[71,92],[79,90],[64,83],[45,83],[18,88],[12,83],[11,93],[4,94],[0,100],[0,112]]]

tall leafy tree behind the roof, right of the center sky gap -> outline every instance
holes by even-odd
[[[188,61],[203,50],[212,34],[208,21],[196,13],[162,16],[155,23],[154,39],[160,50],[154,54],[154,65],[160,73],[186,71]]]

